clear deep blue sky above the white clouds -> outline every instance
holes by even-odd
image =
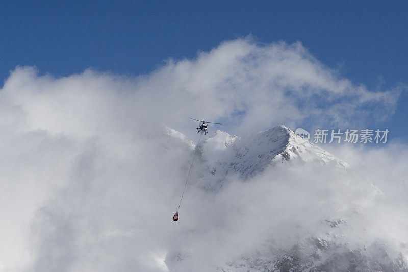
[[[168,58],[194,58],[224,40],[300,41],[326,66],[370,90],[408,76],[406,2],[6,2],[0,10],[0,78],[17,65],[67,76],[88,67],[125,75],[155,70]],[[386,123],[407,141],[408,96]]]

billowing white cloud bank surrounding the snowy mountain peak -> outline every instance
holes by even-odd
[[[188,116],[238,135],[280,123],[364,124],[373,107],[392,114],[399,92],[356,86],[301,44],[247,39],[136,78],[18,67],[0,90],[0,269],[209,271],[323,236],[326,219],[347,222],[340,241],[349,250],[367,244],[381,255],[378,243],[390,260],[406,261],[405,146],[347,151],[359,170],[352,178],[271,169],[217,193],[191,186],[174,224],[191,149],[162,129],[193,137]],[[368,193],[367,176],[382,193]]]

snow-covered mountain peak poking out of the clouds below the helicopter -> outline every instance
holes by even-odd
[[[210,177],[196,176],[207,188],[218,188],[228,174],[246,179],[281,163],[333,163],[346,169],[347,163],[339,160],[317,145],[296,136],[285,126],[237,137],[217,130],[198,146],[200,164],[196,173],[207,170]],[[205,169],[203,169],[205,168]]]

